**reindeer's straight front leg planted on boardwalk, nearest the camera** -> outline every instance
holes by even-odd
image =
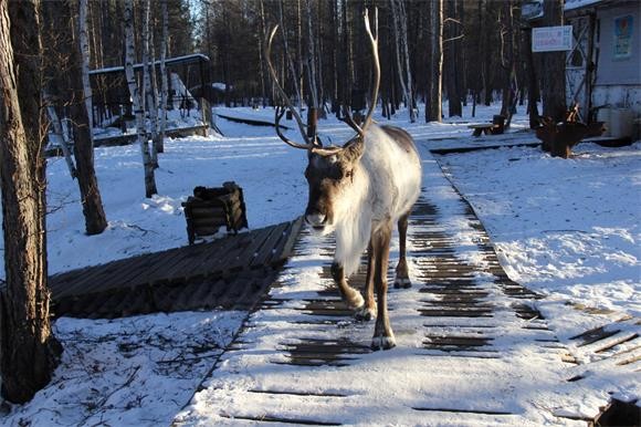
[[[378,315],[371,339],[372,350],[388,350],[396,346],[393,332],[389,325],[387,313],[387,267],[389,263],[389,241],[391,239],[391,223],[383,225],[371,236],[371,249],[374,252],[374,283],[376,284],[376,298]]]

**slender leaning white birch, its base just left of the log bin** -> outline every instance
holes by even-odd
[[[148,2],[149,0],[146,0]],[[136,114],[136,133],[138,136],[138,144],[143,154],[143,167],[145,170],[145,196],[151,197],[158,194],[156,189],[156,177],[154,174],[154,163],[149,154],[149,140],[147,139],[147,132],[145,128],[145,111],[143,108],[144,97],[141,96],[140,87],[136,82],[136,74],[134,73],[134,0],[125,0],[125,75],[127,77],[127,86],[129,87],[129,95],[134,104],[134,112]]]

